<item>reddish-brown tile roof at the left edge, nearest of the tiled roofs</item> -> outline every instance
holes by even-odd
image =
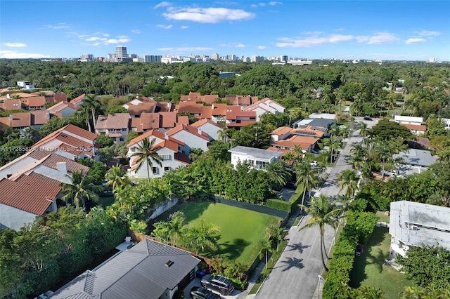
[[[42,215],[56,199],[61,187],[57,180],[44,175],[21,175],[17,180],[0,180],[0,203]]]

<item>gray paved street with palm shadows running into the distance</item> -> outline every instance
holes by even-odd
[[[362,119],[361,119],[362,120]],[[359,121],[359,119],[356,119]],[[368,126],[376,124],[375,121],[367,121]],[[336,197],[339,194],[338,175],[346,168],[349,150],[352,145],[361,142],[362,138],[354,131],[349,138],[346,147],[342,150],[338,161],[331,169],[330,175],[319,192],[329,197]],[[309,219],[307,215],[300,227]],[[289,232],[290,241],[285,251],[281,254],[278,262],[275,264],[269,277],[264,281],[256,299],[311,299],[317,288],[319,277],[323,270],[320,250],[320,233],[318,227],[310,227],[304,230],[298,230],[292,227]],[[325,230],[326,248],[330,248],[334,233],[331,227]],[[323,281],[322,284],[323,286]]]

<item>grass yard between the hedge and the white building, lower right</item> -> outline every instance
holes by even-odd
[[[390,239],[388,227],[375,227],[371,238],[364,244],[364,253],[355,257],[349,286],[374,286],[385,293],[385,298],[394,299],[399,298],[405,286],[414,285],[394,267],[383,265],[389,254]]]

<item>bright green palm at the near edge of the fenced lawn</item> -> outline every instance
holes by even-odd
[[[196,252],[199,250],[204,252],[205,249],[215,251],[219,248],[214,237],[218,232],[220,232],[218,226],[207,223],[205,219],[202,219],[200,226],[188,228],[185,234],[187,240],[186,244],[191,250]]]

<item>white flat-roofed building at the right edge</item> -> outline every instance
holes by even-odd
[[[411,246],[442,246],[450,250],[450,208],[394,201],[390,208],[390,258],[405,256]]]

